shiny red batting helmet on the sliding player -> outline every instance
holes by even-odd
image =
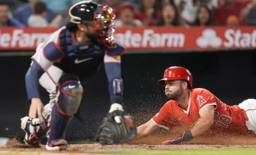
[[[165,70],[163,74],[163,79],[158,80],[158,83],[164,83],[167,80],[177,80],[177,79],[184,79],[189,82],[190,87],[192,87],[192,74],[189,72],[188,69],[184,67],[174,66],[169,67]]]

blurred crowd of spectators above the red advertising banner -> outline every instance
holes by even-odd
[[[81,0],[0,0],[0,26],[60,27]],[[115,26],[256,26],[256,0],[94,0]]]

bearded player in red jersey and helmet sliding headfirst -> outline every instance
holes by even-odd
[[[228,106],[206,89],[192,89],[192,75],[183,67],[167,68],[158,82],[165,84],[165,95],[170,100],[153,118],[137,128],[138,135],[133,141],[148,136],[159,127],[169,130],[180,125],[190,126],[190,129],[162,144],[187,142],[208,129],[215,134],[255,135],[256,100]]]

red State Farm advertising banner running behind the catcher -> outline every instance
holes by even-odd
[[[1,28],[0,50],[35,50],[56,28]],[[256,47],[256,27],[116,28],[127,49],[200,50]]]

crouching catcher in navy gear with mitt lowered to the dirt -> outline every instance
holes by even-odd
[[[83,0],[69,9],[70,23],[38,45],[25,76],[29,116],[21,118],[26,144],[40,144],[47,135],[47,150],[66,149],[64,132],[78,110],[83,94],[80,80],[96,74],[105,63],[111,107],[95,140],[120,144],[136,136],[136,125],[123,108],[123,81],[120,56],[125,48],[115,42],[115,15],[109,6]],[[39,86],[50,93],[43,106]],[[38,117],[37,117],[38,116]],[[117,132],[118,131],[118,132]]]

